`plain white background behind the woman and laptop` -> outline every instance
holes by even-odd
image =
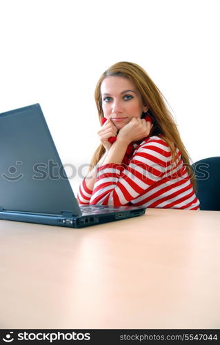
[[[0,0],[0,112],[40,103],[77,193],[99,144],[97,80],[132,61],[168,100],[192,161],[220,155],[219,37],[219,0]]]

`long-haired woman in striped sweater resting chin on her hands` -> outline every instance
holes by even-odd
[[[197,210],[188,153],[145,70],[115,63],[101,75],[95,101],[101,145],[81,182],[79,204]]]

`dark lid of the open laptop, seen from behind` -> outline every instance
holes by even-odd
[[[81,215],[39,104],[0,115],[0,207]]]

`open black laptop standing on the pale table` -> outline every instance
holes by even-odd
[[[146,211],[79,205],[38,103],[0,114],[0,148],[0,219],[82,228]]]

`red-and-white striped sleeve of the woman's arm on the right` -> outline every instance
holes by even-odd
[[[128,166],[105,164],[98,168],[90,204],[129,205],[163,178],[170,166],[171,152],[166,141],[153,138],[143,141]]]

